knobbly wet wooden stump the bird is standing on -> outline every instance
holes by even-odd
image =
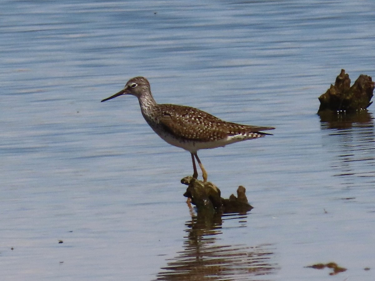
[[[253,208],[245,195],[245,187],[241,185],[237,189],[237,197],[232,194],[229,199],[223,199],[220,197],[220,189],[212,182],[202,182],[192,176],[186,176],[181,179],[181,183],[188,185],[184,196],[191,199],[198,212],[244,213]]]

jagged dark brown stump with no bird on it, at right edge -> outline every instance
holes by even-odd
[[[335,85],[322,94],[318,99],[320,107],[318,114],[325,111],[353,113],[368,108],[372,102],[374,82],[370,76],[361,74],[350,87],[349,75],[341,69]]]

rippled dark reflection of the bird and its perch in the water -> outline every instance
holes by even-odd
[[[273,274],[272,245],[219,245],[225,220],[237,220],[247,227],[245,214],[211,214],[199,212],[186,222],[183,251],[168,260],[156,280],[249,280]],[[223,279],[224,278],[224,279]]]

